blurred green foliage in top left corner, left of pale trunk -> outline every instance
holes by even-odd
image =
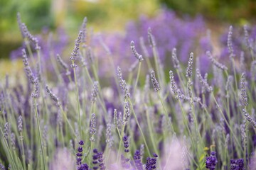
[[[28,23],[31,30],[41,29],[43,26],[53,27],[53,17],[50,1],[0,1],[0,31],[13,32],[17,30],[16,15],[21,13],[23,22]]]

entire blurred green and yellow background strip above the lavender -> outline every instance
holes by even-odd
[[[63,28],[73,42],[85,16],[88,27],[95,32],[122,33],[129,21],[136,22],[140,16],[154,18],[163,8],[183,19],[202,16],[215,34],[230,25],[253,24],[256,16],[254,0],[1,0],[1,75],[11,67],[11,52],[22,43],[16,22],[18,12],[33,35]]]

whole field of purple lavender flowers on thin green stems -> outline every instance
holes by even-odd
[[[216,35],[166,9],[123,34],[87,20],[75,38],[34,35],[17,14],[0,169],[256,169],[256,26]]]

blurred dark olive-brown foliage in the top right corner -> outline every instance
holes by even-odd
[[[255,0],[160,0],[167,7],[180,14],[195,16],[200,13],[204,18],[216,21],[231,21],[254,19],[256,14]]]

